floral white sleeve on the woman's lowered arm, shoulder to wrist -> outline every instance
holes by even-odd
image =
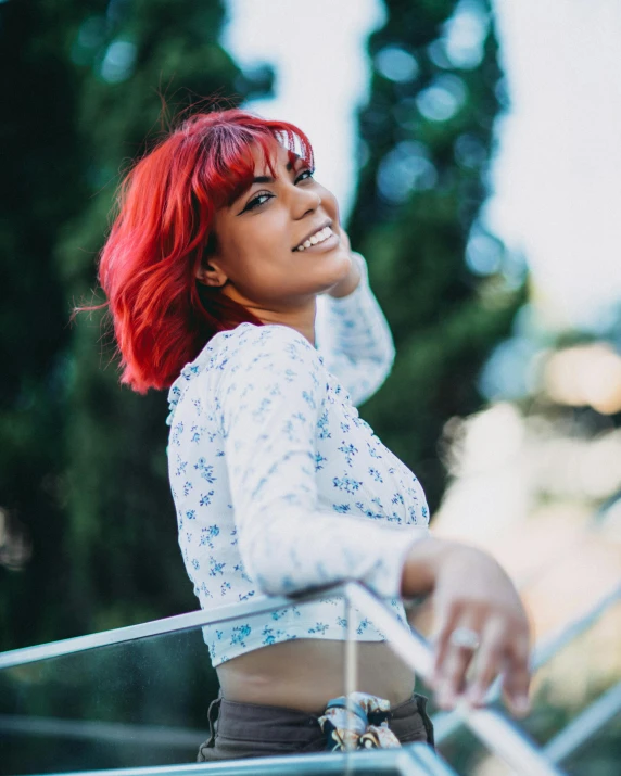
[[[353,578],[398,596],[405,556],[426,529],[318,508],[326,373],[317,351],[286,326],[256,329],[218,393],[240,555],[261,589],[289,595]]]

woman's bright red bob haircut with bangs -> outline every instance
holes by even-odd
[[[263,150],[276,177],[274,140],[288,149],[290,161],[300,156],[314,168],[310,142],[297,127],[229,109],[183,120],[121,182],[99,281],[114,325],[121,382],[134,391],[169,387],[214,334],[243,321],[261,325],[218,289],[199,283],[195,272],[216,246],[214,213],[252,185],[252,148]]]

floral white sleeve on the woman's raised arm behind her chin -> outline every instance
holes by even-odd
[[[354,405],[372,396],[392,368],[395,349],[388,321],[370,287],[367,263],[353,253],[362,270],[348,295],[317,300],[317,347],[326,367],[350,393]]]

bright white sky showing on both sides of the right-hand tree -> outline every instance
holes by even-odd
[[[476,0],[461,0],[461,10]],[[317,178],[346,222],[355,110],[368,98],[366,39],[381,0],[228,0],[223,43],[271,63],[274,99],[246,106],[308,135]],[[494,0],[510,109],[498,119],[482,219],[522,253],[552,328],[598,330],[621,300],[621,2]],[[464,30],[461,30],[464,31]],[[467,30],[466,30],[467,33]]]

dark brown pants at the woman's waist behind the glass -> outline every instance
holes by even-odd
[[[389,726],[402,743],[426,741],[434,746],[433,725],[426,708],[427,698],[417,692],[393,707]],[[220,691],[210,704],[210,738],[201,745],[197,762],[325,752],[326,739],[318,722],[321,713],[238,703],[223,698]]]

